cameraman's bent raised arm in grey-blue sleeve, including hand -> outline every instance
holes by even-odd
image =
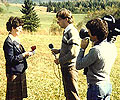
[[[98,52],[95,48],[90,49],[89,53],[84,56],[84,52],[89,44],[89,39],[85,38],[81,41],[80,52],[77,57],[76,67],[78,70],[90,66],[97,58]]]

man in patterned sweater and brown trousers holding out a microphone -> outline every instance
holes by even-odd
[[[61,66],[62,80],[66,100],[80,100],[78,96],[78,71],[76,70],[75,62],[79,53],[79,32],[73,26],[72,13],[62,8],[56,14],[57,23],[61,28],[64,28],[61,49],[52,49],[52,53],[58,54],[54,62]]]

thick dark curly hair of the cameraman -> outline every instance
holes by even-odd
[[[88,21],[86,27],[90,30],[92,36],[97,36],[99,41],[106,39],[108,36],[108,24],[100,18]]]

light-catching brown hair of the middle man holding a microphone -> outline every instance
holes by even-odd
[[[56,14],[56,18],[58,17],[62,19],[68,18],[68,23],[73,23],[73,16],[70,10],[67,10],[65,8],[60,9]]]

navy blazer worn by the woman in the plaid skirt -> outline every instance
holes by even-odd
[[[3,45],[6,59],[6,74],[20,74],[27,69],[26,58],[22,53],[25,52],[23,46],[8,36]]]

